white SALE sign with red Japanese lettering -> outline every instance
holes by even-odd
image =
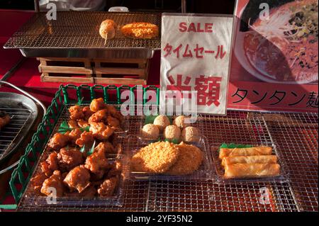
[[[233,16],[162,16],[161,108],[226,114]]]

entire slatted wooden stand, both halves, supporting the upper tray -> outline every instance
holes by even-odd
[[[147,84],[149,60],[38,58],[41,81],[91,84]]]

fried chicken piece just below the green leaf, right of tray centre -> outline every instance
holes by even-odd
[[[94,174],[106,169],[108,167],[108,159],[106,159],[103,150],[94,152],[89,157],[87,157],[84,167],[86,169],[89,169],[89,171]]]

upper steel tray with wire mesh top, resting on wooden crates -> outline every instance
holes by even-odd
[[[118,27],[115,38],[105,43],[99,35],[99,26],[107,18]],[[36,13],[4,48],[20,49],[25,57],[149,59],[161,48],[161,34],[147,40],[126,38],[121,27],[133,22],[154,23],[161,30],[160,13],[62,11],[55,21],[48,21],[45,13]]]

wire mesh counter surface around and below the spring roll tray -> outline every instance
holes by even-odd
[[[129,117],[129,135],[140,132],[140,117]],[[289,181],[231,184],[209,181],[125,181],[122,206],[38,208],[21,200],[22,211],[318,211],[318,114],[229,111],[201,115],[199,127],[210,146],[222,142],[276,144]],[[268,196],[263,196],[263,194]]]

